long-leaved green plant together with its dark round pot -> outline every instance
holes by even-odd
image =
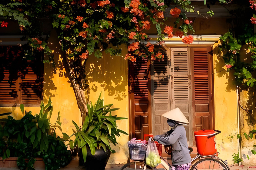
[[[116,136],[120,137],[120,133],[128,135],[116,125],[117,120],[127,118],[112,116],[111,112],[118,109],[111,109],[113,104],[103,106],[100,96],[94,105],[87,104],[88,115],[81,128],[72,121],[76,131],[71,136],[75,135],[76,138],[69,141],[70,148],[75,146],[79,149],[79,162],[86,170],[104,170],[110,153],[115,153],[110,143],[118,144]]]

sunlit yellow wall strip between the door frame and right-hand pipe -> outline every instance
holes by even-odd
[[[219,48],[214,48],[214,101],[215,129],[221,130],[216,136],[219,157],[232,164],[232,154],[238,153],[237,96],[236,87],[232,84],[233,76],[227,73],[223,59],[217,55]],[[232,139],[230,134],[234,135]],[[227,137],[228,136],[228,137]]]

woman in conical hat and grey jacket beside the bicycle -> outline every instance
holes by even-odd
[[[179,108],[162,115],[167,118],[171,128],[162,135],[156,135],[152,140],[163,145],[172,145],[172,170],[189,170],[191,157],[188,150],[186,130],[182,126],[189,123]]]

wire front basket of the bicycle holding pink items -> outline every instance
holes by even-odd
[[[147,151],[147,144],[144,143],[128,143],[129,152],[132,160],[144,160]]]

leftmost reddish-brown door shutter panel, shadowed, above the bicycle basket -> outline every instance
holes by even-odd
[[[151,133],[148,68],[147,59],[137,58],[136,62],[130,62],[131,137],[137,139]]]

